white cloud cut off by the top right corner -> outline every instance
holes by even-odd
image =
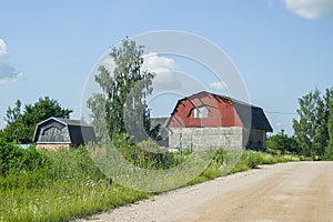
[[[306,19],[333,16],[332,0],[284,0],[286,9]]]

